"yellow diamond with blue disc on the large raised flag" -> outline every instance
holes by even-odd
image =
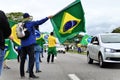
[[[71,14],[64,12],[59,32],[61,34],[71,33],[80,21],[81,19],[75,18]]]

